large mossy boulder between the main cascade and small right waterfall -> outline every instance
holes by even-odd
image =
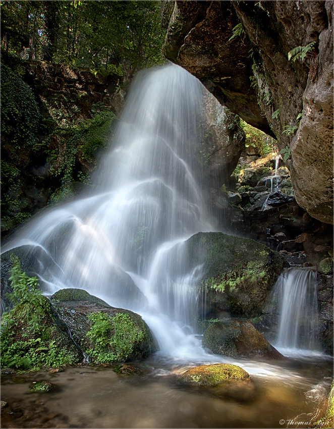
[[[198,287],[204,313],[227,311],[236,317],[261,314],[284,258],[254,240],[223,233],[198,233],[186,241],[188,269],[202,265]],[[199,301],[201,302],[201,301]]]

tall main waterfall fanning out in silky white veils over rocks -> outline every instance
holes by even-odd
[[[196,299],[198,272],[184,272],[183,243],[214,230],[196,168],[203,90],[175,65],[142,72],[94,194],[36,217],[2,250],[29,245],[46,292],[82,288],[145,315],[169,351],[190,329]]]

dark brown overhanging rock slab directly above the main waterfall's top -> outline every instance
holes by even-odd
[[[238,23],[230,2],[175,2],[164,54],[200,79],[221,104],[271,134],[250,87],[249,39],[229,41]]]

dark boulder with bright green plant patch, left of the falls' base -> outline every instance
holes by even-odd
[[[63,289],[50,297],[74,341],[93,361],[112,363],[143,359],[157,350],[142,317],[109,306],[81,289]]]

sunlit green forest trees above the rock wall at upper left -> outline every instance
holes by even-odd
[[[2,2],[3,48],[14,56],[125,78],[162,62],[163,2]]]

